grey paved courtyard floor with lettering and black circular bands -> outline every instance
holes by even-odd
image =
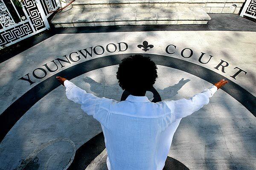
[[[116,71],[131,54],[157,64],[154,88],[163,101],[189,98],[222,78],[230,81],[208,105],[181,120],[168,166],[256,169],[256,32],[222,28],[66,30],[1,62],[0,170],[105,169],[99,122],[67,99],[55,77],[120,101]],[[153,94],[146,96],[152,100]]]

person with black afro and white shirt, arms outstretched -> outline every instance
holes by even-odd
[[[62,77],[67,98],[102,125],[108,152],[109,170],[163,170],[172,137],[180,119],[209,103],[209,97],[227,83],[176,101],[150,102],[145,96],[157,78],[157,66],[149,57],[129,56],[119,64],[116,78],[130,95],[126,100],[99,98]]]

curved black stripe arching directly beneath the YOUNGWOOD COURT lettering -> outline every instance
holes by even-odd
[[[0,141],[3,140],[4,136],[8,131],[15,125],[15,123],[20,119],[26,111],[29,110],[36,102],[38,102],[42,97],[47,95],[53,89],[59,86],[55,77],[62,76],[67,79],[73,79],[80,76],[81,74],[87,73],[98,68],[103,68],[111,65],[117,65],[121,62],[121,59],[127,57],[131,54],[116,54],[106,57],[99,57],[96,59],[91,59],[70,68],[67,68],[52,77],[40,82],[35,87],[31,88],[25,94],[23,94],[19,99],[12,103],[1,115],[0,115]],[[210,83],[215,83],[220,79],[227,79],[214,71],[204,68],[200,65],[184,61],[182,59],[172,58],[157,54],[141,54],[144,56],[149,56],[157,65],[163,65],[171,68],[176,68],[181,71],[186,71],[187,73],[193,74],[201,79],[204,79]],[[244,105],[248,111],[250,111],[254,116],[256,116],[256,97],[250,94],[241,86],[229,80],[229,84],[222,88],[225,92],[230,94],[238,102]]]

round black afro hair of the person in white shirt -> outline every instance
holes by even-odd
[[[149,57],[131,55],[122,59],[116,78],[123,90],[136,96],[154,85],[157,79],[157,65]]]

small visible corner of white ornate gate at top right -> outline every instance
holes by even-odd
[[[256,19],[256,0],[247,0],[240,14],[241,17],[247,16]]]

